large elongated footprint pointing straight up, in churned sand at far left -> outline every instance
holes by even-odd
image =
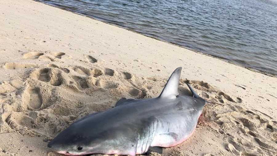
[[[33,109],[39,109],[42,104],[42,97],[40,94],[40,90],[38,88],[30,89],[29,94],[30,94],[29,106]]]

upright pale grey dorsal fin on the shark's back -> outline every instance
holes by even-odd
[[[163,88],[162,93],[160,94],[159,98],[176,98],[178,93],[178,86],[180,81],[182,67],[179,67],[174,70],[171,74],[170,78],[167,81],[167,84]]]

